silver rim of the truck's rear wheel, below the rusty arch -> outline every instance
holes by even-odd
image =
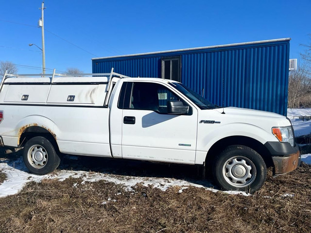
[[[48,152],[41,145],[34,145],[28,150],[28,161],[35,168],[42,168],[47,164]]]

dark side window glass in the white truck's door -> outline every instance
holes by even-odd
[[[179,100],[184,105],[188,105],[184,100],[180,99],[171,90],[161,84],[137,82],[133,83],[130,95],[128,90],[129,88],[125,92],[124,109],[151,110],[165,114],[167,113],[167,102],[170,100]],[[126,99],[129,101],[127,102]],[[192,114],[191,110],[189,111],[189,115]]]

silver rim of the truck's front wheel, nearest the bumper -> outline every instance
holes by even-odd
[[[256,178],[256,167],[246,157],[236,156],[228,159],[223,166],[223,175],[227,183],[234,187],[246,187]]]

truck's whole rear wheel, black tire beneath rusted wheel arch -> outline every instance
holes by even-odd
[[[42,136],[33,137],[26,142],[23,157],[28,170],[38,175],[54,171],[60,163],[52,143]]]

